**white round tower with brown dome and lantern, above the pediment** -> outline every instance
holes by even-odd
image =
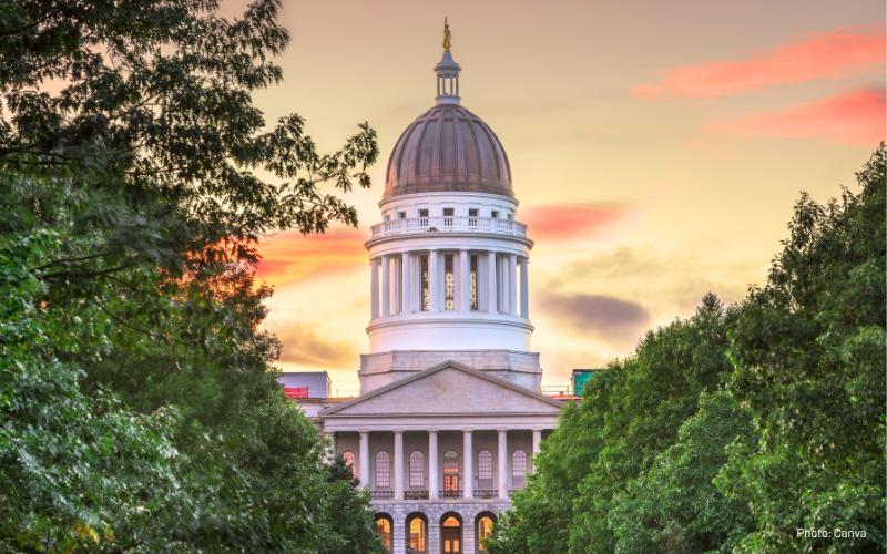
[[[449,50],[435,71],[436,104],[398,138],[381,220],[366,243],[371,300],[360,391],[467,357],[538,389],[529,316],[533,243],[518,215],[511,165],[492,129],[461,105],[460,68]]]

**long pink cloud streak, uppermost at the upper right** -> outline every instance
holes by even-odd
[[[838,79],[880,71],[885,33],[876,28],[838,28],[742,60],[682,65],[657,72],[655,83],[639,84],[642,99],[715,98],[777,84]]]

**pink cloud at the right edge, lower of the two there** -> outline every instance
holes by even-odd
[[[875,147],[885,138],[884,98],[884,89],[853,90],[782,111],[710,125],[708,131],[747,137],[822,137],[838,144]]]

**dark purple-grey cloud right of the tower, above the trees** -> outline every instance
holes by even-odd
[[[650,314],[643,306],[612,296],[561,293],[541,296],[542,310],[578,334],[635,340],[650,322]]]

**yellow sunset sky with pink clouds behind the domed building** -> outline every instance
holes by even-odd
[[[237,11],[236,2],[225,10]],[[508,152],[529,224],[543,384],[632,352],[702,295],[761,284],[801,191],[825,201],[885,136],[884,2],[285,1],[284,82],[255,96],[333,151],[381,151],[357,229],[269,237],[266,322],[286,370],[357,390],[388,155],[434,103],[443,16],[462,104]]]

